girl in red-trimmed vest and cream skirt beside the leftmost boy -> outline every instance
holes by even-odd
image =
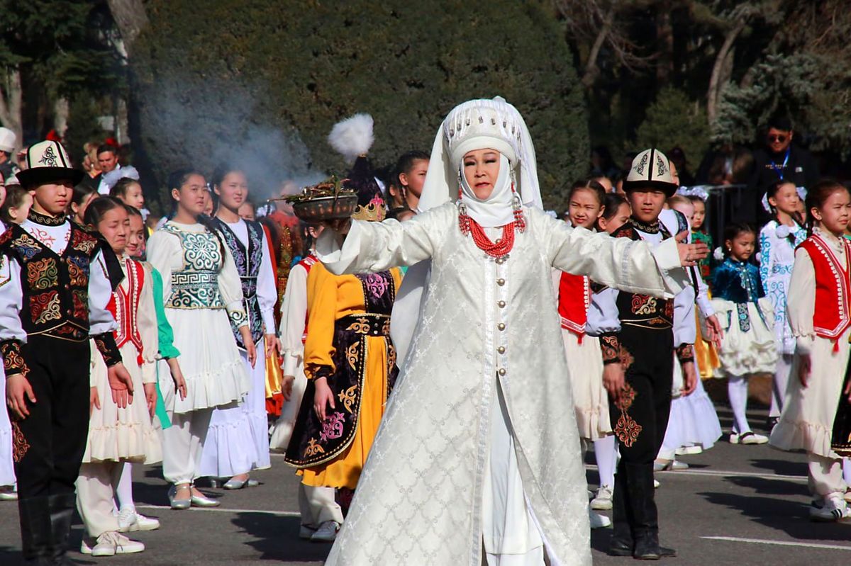
[[[89,440],[77,478],[77,510],[88,534],[81,552],[112,556],[141,552],[145,545],[120,534],[113,494],[124,462],[153,464],[162,460],[162,449],[151,424],[157,401],[157,314],[154,310],[151,273],[125,254],[129,216],[121,201],[100,197],[86,210],[86,223],[97,229],[118,257],[124,279],[108,304],[117,323],[116,345],[133,377],[134,390],[144,391],[136,402],[121,409],[112,402],[106,365],[92,356],[91,417]],[[158,524],[157,524],[158,526]]]

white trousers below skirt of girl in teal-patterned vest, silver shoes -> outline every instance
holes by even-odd
[[[170,484],[191,484],[202,477],[201,455],[212,409],[172,413],[171,426],[163,430],[163,477]]]

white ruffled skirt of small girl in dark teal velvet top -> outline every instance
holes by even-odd
[[[737,303],[713,298],[719,322],[724,329],[724,338],[718,358],[721,369],[728,376],[746,376],[752,373],[774,373],[777,365],[777,344],[774,337],[774,309],[768,297],[759,299],[759,307],[765,322],[757,310],[756,303],[745,303],[748,324],[742,328]]]

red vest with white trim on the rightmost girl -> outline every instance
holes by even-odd
[[[851,325],[848,313],[849,292],[848,274],[851,273],[851,241],[842,238],[845,258],[837,258],[831,246],[818,234],[811,235],[801,243],[809,254],[815,269],[815,304],[813,328],[816,336],[837,341],[842,332]]]

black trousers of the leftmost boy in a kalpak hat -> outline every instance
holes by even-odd
[[[13,423],[18,496],[73,494],[89,436],[89,342],[33,336],[21,354],[36,402]]]

